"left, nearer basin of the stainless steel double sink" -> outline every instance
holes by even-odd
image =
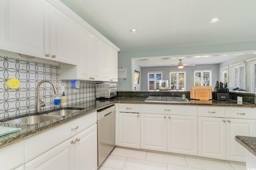
[[[28,124],[42,123],[44,121],[49,121],[49,120],[55,119],[57,117],[60,117],[60,116],[55,116],[55,115],[34,115],[34,116],[27,116],[27,117],[21,117],[21,118],[18,118],[18,119],[13,119],[13,120],[10,120],[10,121],[6,121],[4,123],[28,125]]]

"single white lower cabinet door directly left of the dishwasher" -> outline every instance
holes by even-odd
[[[74,137],[75,170],[97,169],[97,124]]]

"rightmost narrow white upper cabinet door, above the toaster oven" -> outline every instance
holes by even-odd
[[[113,82],[118,82],[118,53],[112,48],[110,58],[110,78]]]

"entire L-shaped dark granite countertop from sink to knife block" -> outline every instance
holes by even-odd
[[[10,135],[5,135],[0,137],[0,147],[9,145],[11,143],[26,139],[28,137],[31,137],[32,135],[36,135],[38,133],[41,133],[45,130],[54,128],[56,126],[62,125],[68,121],[72,121],[74,119],[77,119],[79,117],[82,117],[84,115],[90,114],[94,111],[97,111],[99,109],[102,109],[104,107],[110,106],[114,103],[131,103],[131,104],[165,104],[165,103],[151,103],[151,102],[145,102],[146,98],[134,98],[134,97],[118,97],[113,99],[105,99],[105,100],[89,100],[86,102],[80,102],[80,103],[72,103],[69,104],[66,109],[81,109],[81,111],[71,113],[65,117],[58,117],[56,119],[51,119],[50,121],[45,121],[43,123],[37,123],[32,125],[18,125],[18,124],[10,124],[10,123],[4,123],[5,121],[20,118],[20,117],[26,117],[30,115],[39,115],[39,113],[35,113],[34,111],[21,113],[20,115],[14,115],[8,118],[0,118],[0,126],[6,126],[6,127],[17,127],[20,128],[20,131],[17,133],[12,133]],[[254,104],[248,104],[248,103],[242,103],[238,104],[237,101],[231,100],[231,101],[216,101],[216,100],[210,100],[210,101],[198,101],[198,100],[191,100],[191,103],[168,103],[168,105],[187,105],[187,106],[230,106],[230,107],[254,107]],[[48,108],[42,110],[42,113],[48,113],[50,111],[54,111],[56,109],[54,108]]]

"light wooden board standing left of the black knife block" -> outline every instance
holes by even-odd
[[[212,100],[212,86],[190,86],[190,99]]]

